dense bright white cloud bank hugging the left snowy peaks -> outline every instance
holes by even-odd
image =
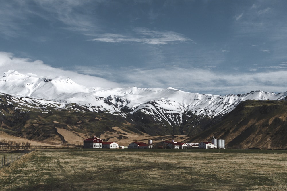
[[[52,68],[44,64],[41,60],[30,60],[28,58],[17,58],[12,53],[0,52],[0,75],[8,70],[15,70],[22,74],[39,77],[65,76],[71,78],[74,82],[86,87],[113,88],[121,87],[120,84],[108,81],[104,78],[79,74],[77,72]],[[0,90],[1,92],[1,90]]]

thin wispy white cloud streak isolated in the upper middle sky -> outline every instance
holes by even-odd
[[[144,44],[172,44],[176,42],[193,41],[182,34],[173,31],[154,31],[147,28],[134,28],[134,36],[124,36],[122,34],[100,34],[98,38],[91,41],[101,42],[139,42]]]

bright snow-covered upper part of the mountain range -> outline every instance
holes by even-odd
[[[0,92],[18,96],[25,103],[37,100],[39,105],[48,104],[51,107],[63,108],[76,103],[90,111],[106,111],[124,117],[127,114],[145,113],[172,126],[181,125],[183,115],[188,113],[215,117],[232,111],[244,100],[282,100],[287,96],[287,92],[252,91],[221,96],[189,93],[174,88],[87,88],[70,78],[27,76],[14,70],[5,72],[0,78]]]

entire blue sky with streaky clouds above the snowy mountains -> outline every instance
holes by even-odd
[[[0,1],[0,76],[204,94],[286,92],[285,0]]]

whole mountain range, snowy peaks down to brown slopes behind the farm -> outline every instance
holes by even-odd
[[[226,148],[287,148],[287,92],[220,96],[174,88],[87,88],[69,78],[13,70],[0,78],[0,92],[0,132],[39,143],[82,144],[94,135],[119,144],[214,136],[225,139]]]

